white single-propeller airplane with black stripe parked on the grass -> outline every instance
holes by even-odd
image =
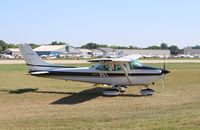
[[[68,67],[55,65],[43,61],[28,44],[20,44],[19,49],[33,76],[48,77],[61,80],[89,82],[95,84],[112,85],[111,89],[104,90],[104,95],[116,96],[125,92],[127,86],[142,85],[142,95],[152,95],[154,90],[148,88],[162,76],[169,73],[168,70],[145,66],[136,59],[140,55],[125,56],[122,58],[101,58],[90,60],[97,63],[91,67]]]

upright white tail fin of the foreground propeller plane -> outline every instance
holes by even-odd
[[[43,61],[28,44],[19,44],[19,49],[30,71],[49,70],[53,64]]]

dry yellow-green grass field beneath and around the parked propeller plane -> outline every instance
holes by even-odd
[[[103,87],[32,77],[25,65],[0,65],[0,129],[199,130],[200,64],[167,68],[164,92],[159,81],[151,97],[141,97],[140,86],[104,97]]]

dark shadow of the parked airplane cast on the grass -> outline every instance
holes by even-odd
[[[40,91],[38,88],[23,88],[17,90],[0,90],[7,91],[11,94],[24,94],[24,93],[48,93],[48,94],[68,94],[68,96],[58,99],[50,104],[53,105],[75,105],[79,103],[83,103],[92,99],[95,99],[99,96],[103,97],[103,90],[106,88],[96,87],[87,90],[83,90],[81,92],[57,92],[57,91]],[[120,94],[118,96],[121,97],[141,97],[141,95],[135,94]]]

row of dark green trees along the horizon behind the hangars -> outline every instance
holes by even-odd
[[[34,49],[40,45],[35,44],[35,43],[29,43],[29,45]],[[67,45],[65,42],[57,42],[53,41],[49,43],[49,45]],[[106,44],[97,44],[97,43],[87,43],[85,45],[82,45],[81,48],[86,48],[86,49],[97,49],[97,48],[105,48],[105,47],[110,47],[113,49],[144,49],[144,50],[170,50],[172,55],[177,55],[177,54],[182,54],[183,49],[178,48],[176,45],[171,45],[169,46],[166,43],[161,43],[159,46],[153,45],[153,46],[148,46],[146,48],[141,48],[141,47],[136,47],[136,46],[108,46]],[[9,44],[4,42],[3,40],[0,40],[0,53],[7,48],[17,48],[16,44]],[[192,46],[193,49],[200,49],[200,45]]]

